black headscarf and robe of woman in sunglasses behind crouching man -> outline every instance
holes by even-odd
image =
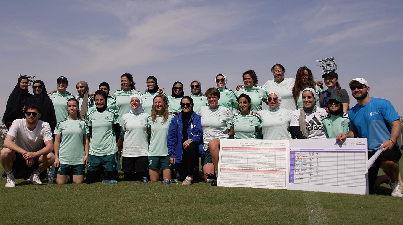
[[[35,89],[33,88],[35,83],[39,83],[40,85],[42,85],[42,92],[39,95],[35,94]],[[53,103],[48,96],[48,92],[46,91],[44,82],[41,80],[36,80],[32,82],[32,90],[34,91],[34,94],[32,97],[29,98],[28,105],[35,104],[39,106],[39,108],[41,109],[40,120],[48,122],[53,132],[57,124],[56,114],[54,113]]]

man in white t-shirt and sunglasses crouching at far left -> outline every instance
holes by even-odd
[[[39,106],[28,105],[26,119],[14,120],[8,130],[0,157],[7,173],[6,188],[15,186],[17,168],[32,171],[32,184],[42,184],[39,174],[54,162],[52,131],[47,122],[38,120],[40,116]]]

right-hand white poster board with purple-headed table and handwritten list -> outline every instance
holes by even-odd
[[[289,190],[368,194],[367,138],[292,139]]]

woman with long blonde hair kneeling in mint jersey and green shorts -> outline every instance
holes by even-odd
[[[159,171],[162,169],[163,180],[171,179],[172,165],[168,156],[167,136],[168,128],[174,114],[168,111],[168,101],[165,95],[156,95],[151,115],[147,120],[147,133],[150,135],[148,147],[148,168],[150,180],[156,182],[160,179]]]

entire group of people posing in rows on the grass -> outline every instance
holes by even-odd
[[[370,96],[365,76],[343,75],[350,80],[344,89],[335,69],[322,73],[314,78],[301,66],[286,76],[276,63],[259,83],[253,69],[239,72],[235,87],[220,73],[206,75],[211,82],[203,85],[159,84],[156,76],[139,80],[129,72],[76,84],[60,76],[46,85],[21,75],[2,117],[5,187],[18,185],[16,178],[40,185],[49,168],[57,184],[177,179],[216,186],[220,140],[367,138],[368,159],[383,149],[368,169],[369,192],[388,183],[392,196],[403,197],[395,108]],[[121,88],[110,90],[119,79]]]

